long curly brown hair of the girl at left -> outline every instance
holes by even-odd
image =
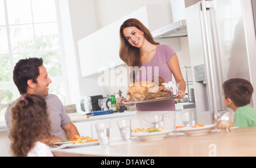
[[[36,141],[49,143],[52,138],[46,101],[42,96],[27,94],[11,108],[11,152],[23,157]]]

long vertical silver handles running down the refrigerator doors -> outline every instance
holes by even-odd
[[[209,101],[209,111],[212,122],[214,121],[214,115],[217,114],[217,96],[214,90],[216,90],[214,85],[214,62],[212,59],[212,47],[210,43],[210,35],[209,35],[209,23],[207,18],[207,5],[209,5],[209,1],[205,2],[205,0],[200,1],[199,3],[200,9],[200,21],[201,21],[201,31],[203,37],[203,48],[204,48],[204,62],[205,62],[205,74],[207,81],[207,92],[208,92],[208,101]]]

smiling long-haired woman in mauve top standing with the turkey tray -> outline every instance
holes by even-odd
[[[173,74],[179,89],[176,99],[183,99],[186,85],[174,50],[168,45],[156,43],[150,31],[137,19],[126,20],[120,27],[119,33],[121,39],[119,57],[127,66],[145,67],[147,71],[146,74],[138,72],[135,75],[129,72],[134,78],[133,82],[152,81],[150,79],[156,77],[162,77],[164,81],[170,82],[172,81]],[[154,72],[155,68],[158,70],[158,76],[155,76],[157,74]],[[122,100],[122,98],[117,99],[119,106],[125,105],[121,103]],[[164,122],[164,127],[170,129],[175,128],[174,99],[137,103],[136,110],[139,119],[145,119],[146,117],[147,120],[150,120],[150,116],[152,115],[164,114],[164,121],[168,120]]]

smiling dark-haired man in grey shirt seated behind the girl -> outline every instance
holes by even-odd
[[[65,112],[60,99],[56,95],[48,94],[48,86],[52,81],[48,77],[46,68],[43,66],[42,58],[19,60],[14,67],[13,79],[21,96],[37,94],[46,99],[54,136],[52,142],[61,141],[66,138],[70,139],[74,135],[79,135],[76,126],[71,122],[70,117]],[[5,113],[7,131],[11,127],[10,110],[15,102],[9,105]]]

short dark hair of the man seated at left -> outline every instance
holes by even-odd
[[[27,81],[29,79],[37,83],[36,78],[39,76],[39,66],[42,65],[42,58],[26,58],[16,63],[13,70],[13,81],[20,94],[27,93]]]

